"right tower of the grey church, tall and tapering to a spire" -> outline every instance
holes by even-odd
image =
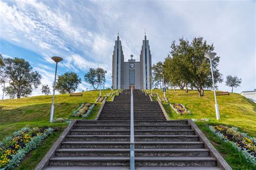
[[[142,51],[140,51],[140,89],[151,89],[151,79],[151,52],[145,32]]]

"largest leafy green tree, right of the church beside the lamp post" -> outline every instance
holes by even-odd
[[[205,88],[213,88],[210,60],[205,58],[204,55],[213,50],[213,44],[207,45],[203,37],[195,37],[191,43],[180,38],[178,45],[173,41],[170,52],[175,65],[173,72],[170,72],[173,76],[172,79],[181,79],[186,86],[190,84],[191,87],[196,88],[199,96],[204,96]],[[223,82],[222,74],[217,69],[219,59],[219,56],[212,59],[215,86],[217,83]]]

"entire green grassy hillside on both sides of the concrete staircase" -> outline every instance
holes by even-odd
[[[110,93],[111,90],[103,90],[102,95]],[[154,90],[163,96],[160,90]],[[81,103],[95,103],[99,91],[87,91],[83,96],[70,97],[69,94],[56,95],[55,97],[55,117],[72,118],[71,113],[75,111]],[[199,97],[196,90],[190,90],[185,93],[184,90],[167,90],[166,96],[171,103],[181,103],[192,112],[191,115],[179,116],[174,112],[168,103],[163,103],[167,114],[171,119],[187,118],[209,118],[209,122],[197,122],[199,128],[206,134],[212,144],[224,156],[228,164],[233,169],[253,169],[248,165],[246,160],[235,151],[232,146],[217,139],[208,129],[209,124],[225,124],[237,126],[241,131],[256,136],[256,104],[247,100],[245,97],[231,93],[230,96],[217,96],[220,108],[220,121],[215,118],[214,96],[212,91],[205,91],[204,97]],[[110,98],[108,99],[110,100]],[[50,126],[56,129],[49,138],[36,150],[33,150],[29,157],[26,158],[21,166],[16,169],[33,169],[38,162],[48,152],[52,144],[57,140],[62,131],[68,124],[49,123],[50,108],[52,96],[35,96],[21,99],[0,100],[0,140],[6,135],[17,131],[24,126]],[[94,119],[100,108],[101,103],[93,109],[91,116],[87,119]]]

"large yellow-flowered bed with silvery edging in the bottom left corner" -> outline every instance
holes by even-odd
[[[52,128],[23,128],[0,142],[0,168],[12,169],[19,165],[33,148],[41,145]]]

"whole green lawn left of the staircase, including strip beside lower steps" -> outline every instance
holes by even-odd
[[[111,90],[102,90],[102,96],[111,93]],[[102,103],[96,103],[99,91],[87,91],[83,96],[70,97],[69,94],[55,96],[54,117],[70,118],[82,103],[95,103],[96,107],[86,119],[95,119]],[[34,169],[52,144],[58,139],[66,123],[50,123],[50,108],[52,95],[25,97],[20,99],[0,100],[0,140],[24,127],[51,127],[55,129],[43,144],[32,150],[16,169]]]

